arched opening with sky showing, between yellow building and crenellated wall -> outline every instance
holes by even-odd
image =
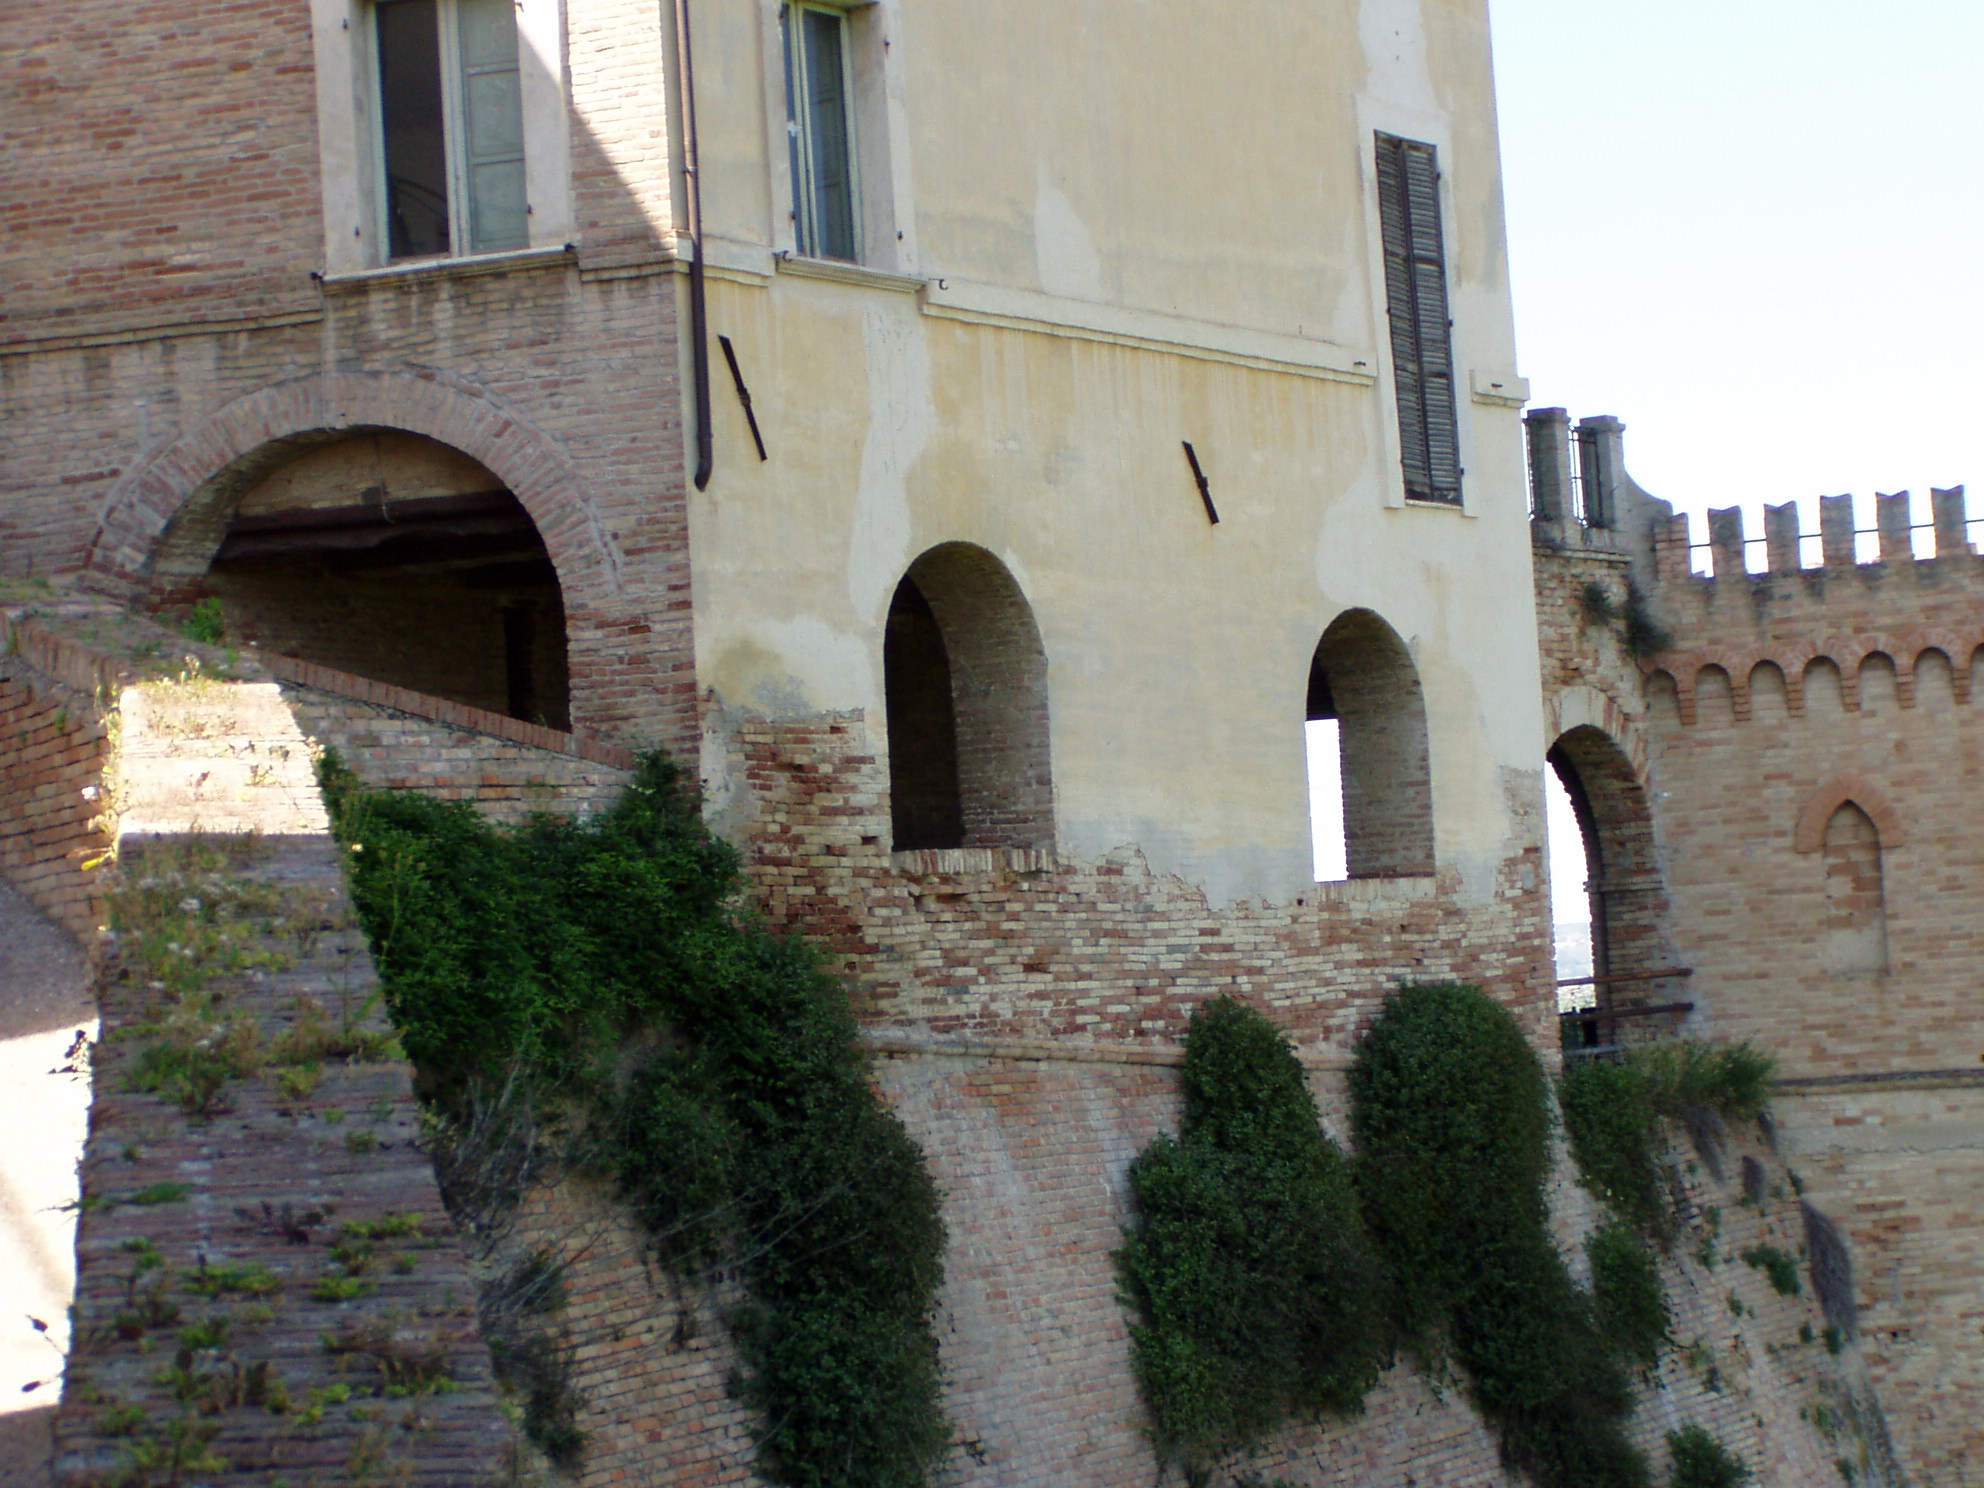
[[[1571,982],[1559,988],[1559,1010],[1615,1012],[1673,1000],[1676,968],[1661,932],[1667,889],[1633,762],[1591,726],[1565,732],[1548,762],[1557,976]],[[1583,1024],[1591,1040],[1601,1028]]]

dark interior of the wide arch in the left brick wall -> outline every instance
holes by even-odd
[[[486,466],[363,429],[260,472],[230,512],[177,595],[218,595],[228,641],[571,726],[558,573]]]

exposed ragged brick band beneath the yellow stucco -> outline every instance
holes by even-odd
[[[875,1026],[1177,1040],[1192,1008],[1234,994],[1274,1008],[1305,1050],[1341,1057],[1385,992],[1458,978],[1553,1048],[1538,847],[1500,865],[1492,897],[1442,869],[1216,911],[1135,849],[1097,863],[1022,849],[891,853],[885,772],[859,714],[750,720],[736,750],[768,915],[847,968]],[[1508,792],[1512,817],[1534,827],[1528,782]]]

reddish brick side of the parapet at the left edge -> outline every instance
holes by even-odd
[[[8,617],[0,655],[0,873],[36,909],[91,944],[101,921],[83,867],[111,847],[103,772],[113,740],[87,665],[54,637]],[[36,665],[40,663],[40,665]]]

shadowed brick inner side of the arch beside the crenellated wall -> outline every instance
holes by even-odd
[[[1597,1004],[1673,1000],[1674,984],[1653,976],[1673,970],[1674,958],[1661,930],[1667,891],[1655,859],[1653,815],[1633,762],[1609,734],[1591,726],[1565,732],[1546,758],[1571,798],[1585,843]],[[1571,865],[1555,869],[1565,873]]]

